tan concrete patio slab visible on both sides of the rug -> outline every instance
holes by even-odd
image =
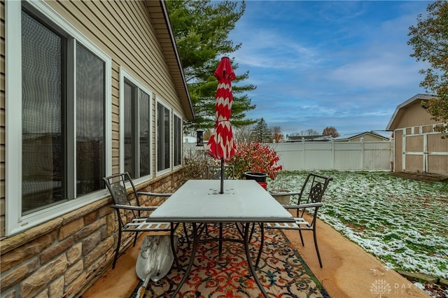
[[[365,253],[362,248],[324,222],[319,221],[317,225],[323,268],[318,264],[312,232],[302,233],[305,246],[300,243],[297,231],[284,232],[330,297],[429,297],[423,290],[397,272],[386,269],[379,260]],[[143,239],[144,236],[140,236],[137,245],[118,259],[116,269],[104,273],[82,297],[130,297],[139,283],[135,264]]]

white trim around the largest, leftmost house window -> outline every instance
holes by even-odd
[[[48,17],[66,34],[75,38],[76,42],[82,44],[92,51],[106,64],[105,73],[105,158],[106,175],[112,173],[112,136],[111,136],[111,76],[112,60],[102,50],[97,48],[80,31],[75,29],[69,22],[50,8],[44,1],[26,1],[27,5]],[[19,232],[39,225],[45,221],[54,219],[76,210],[81,206],[90,204],[98,199],[106,197],[109,192],[99,190],[83,197],[72,199],[56,206],[45,208],[28,215],[21,215],[22,204],[22,1],[6,1],[5,3],[5,34],[6,34],[6,236],[18,234]],[[74,157],[76,158],[76,157]],[[76,161],[75,161],[76,162]],[[76,176],[75,176],[76,177]]]

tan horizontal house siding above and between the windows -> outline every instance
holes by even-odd
[[[141,1],[50,1],[92,43],[112,59],[113,168],[119,166],[120,66],[185,117],[162,46]],[[167,36],[169,38],[169,36]],[[153,101],[154,102],[154,101]],[[155,106],[153,106],[155,127]],[[153,129],[155,144],[155,129]],[[155,153],[155,148],[153,150]],[[155,164],[155,156],[153,156]],[[115,170],[113,171],[115,173]]]

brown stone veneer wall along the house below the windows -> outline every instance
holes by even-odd
[[[174,192],[182,184],[182,171],[176,171],[136,187]],[[101,199],[1,240],[1,297],[76,297],[89,288],[113,261],[118,222],[111,204],[111,197]],[[130,236],[123,234],[126,248]]]

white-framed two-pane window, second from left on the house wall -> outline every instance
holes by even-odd
[[[124,69],[120,69],[120,90],[120,168],[132,178],[151,178],[151,92]]]

